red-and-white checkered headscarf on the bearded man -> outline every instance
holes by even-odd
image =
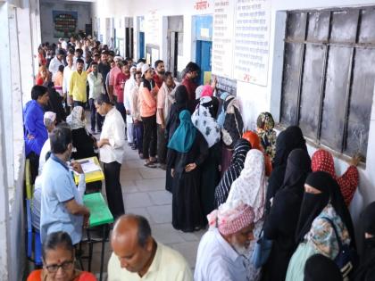
[[[254,222],[254,211],[243,202],[226,202],[208,216],[209,226],[218,227],[223,236],[237,233]]]

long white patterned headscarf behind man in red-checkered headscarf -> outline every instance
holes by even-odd
[[[263,217],[265,192],[264,156],[259,150],[251,149],[246,155],[244,169],[230,187],[227,202],[242,200],[253,207],[254,222],[257,222]]]

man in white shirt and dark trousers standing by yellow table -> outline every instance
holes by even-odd
[[[108,207],[116,219],[125,213],[120,183],[125,146],[125,123],[121,113],[110,102],[108,95],[99,95],[95,105],[96,112],[105,116],[97,147],[100,149],[100,161],[104,162],[105,194],[107,194]]]

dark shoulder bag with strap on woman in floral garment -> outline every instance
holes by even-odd
[[[337,227],[331,219],[327,217],[322,217],[322,219],[326,219],[335,231],[338,253],[334,261],[337,264],[338,269],[340,269],[343,279],[349,280],[351,274],[354,273],[354,267],[358,261],[357,252],[350,245],[342,243],[340,236],[338,236]]]

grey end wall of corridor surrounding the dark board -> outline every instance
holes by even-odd
[[[85,31],[85,25],[91,23],[91,3],[87,2],[41,0],[40,11],[42,42],[56,43],[58,40],[54,37],[52,11],[78,12],[76,32]]]

